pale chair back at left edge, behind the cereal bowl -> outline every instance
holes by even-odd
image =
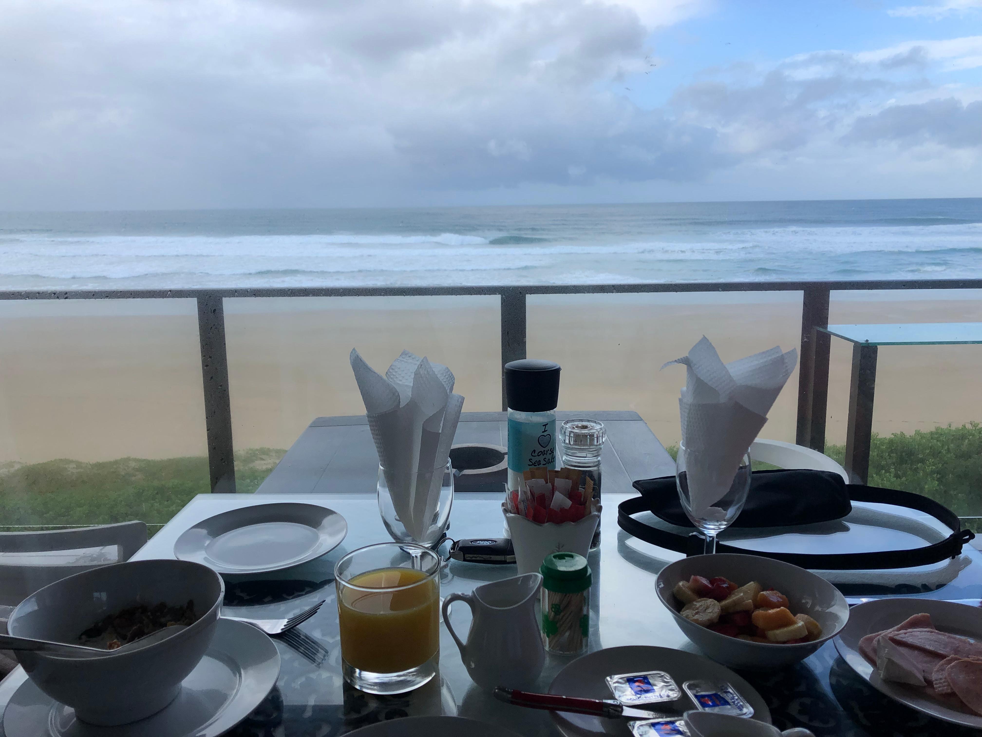
[[[146,525],[115,525],[0,533],[0,619],[48,584],[99,566],[129,560],[146,542]],[[8,610],[9,611],[9,610]]]

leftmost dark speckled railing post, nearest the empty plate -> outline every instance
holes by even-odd
[[[211,490],[235,493],[229,360],[225,349],[225,309],[221,297],[201,295],[197,298],[197,334],[201,344],[204,425],[208,436]]]

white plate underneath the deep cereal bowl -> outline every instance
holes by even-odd
[[[273,641],[251,625],[218,620],[201,662],[182,683],[178,698],[145,719],[96,727],[75,709],[45,695],[29,678],[3,715],[6,737],[218,737],[248,716],[280,674]]]

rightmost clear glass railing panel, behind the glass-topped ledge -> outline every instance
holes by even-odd
[[[980,290],[835,292],[834,323],[962,323]],[[832,340],[826,453],[845,457],[852,344]],[[883,346],[877,355],[869,483],[922,493],[959,516],[982,515],[980,345]],[[975,527],[975,521],[968,520]]]

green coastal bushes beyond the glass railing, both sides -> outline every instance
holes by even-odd
[[[238,490],[255,491],[285,453],[275,448],[236,453]],[[830,445],[826,453],[842,463],[846,449]],[[869,482],[925,494],[959,516],[982,516],[982,424],[874,435]],[[5,463],[0,464],[0,528],[143,520],[153,533],[191,497],[208,490],[203,457]],[[965,522],[977,531],[982,520]]]

